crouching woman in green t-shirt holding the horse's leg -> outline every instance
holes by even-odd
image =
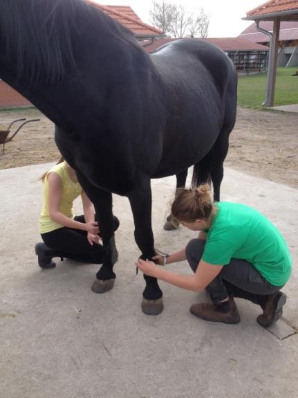
[[[290,278],[292,261],[279,230],[260,212],[239,203],[212,203],[209,186],[183,190],[171,207],[183,226],[199,232],[186,248],[154,257],[158,264],[187,260],[194,275],[179,275],[138,260],[138,268],[177,287],[207,289],[212,303],[194,304],[198,318],[238,323],[233,297],[261,306],[257,322],[268,327],[282,315],[286,294],[281,288]]]

